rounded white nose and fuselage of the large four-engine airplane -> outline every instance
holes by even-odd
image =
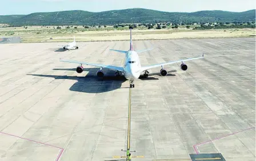
[[[141,63],[137,52],[126,52],[125,63],[123,64],[123,75],[127,80],[136,80],[141,75]]]

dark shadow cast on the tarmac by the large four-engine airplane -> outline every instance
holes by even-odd
[[[55,71],[76,71],[76,68],[54,68]],[[122,76],[115,76],[115,71],[105,69],[105,76],[103,78],[97,77],[96,73],[99,68],[84,68],[83,71],[87,71],[86,76],[67,76],[67,75],[37,75],[37,74],[27,74],[30,76],[37,77],[50,77],[55,80],[76,80],[75,84],[73,84],[69,90],[75,92],[83,92],[83,93],[104,93],[110,92],[112,90],[120,89],[122,83],[127,81],[126,78]],[[174,72],[174,71],[169,71]],[[149,76],[158,75],[159,73],[150,73]],[[167,76],[175,76],[170,73]],[[141,80],[159,80],[155,77],[147,77],[143,78],[143,75],[139,77]],[[129,88],[122,87],[122,88]]]

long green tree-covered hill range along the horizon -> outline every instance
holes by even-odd
[[[241,13],[229,11],[198,11],[194,13],[169,13],[148,9],[126,9],[92,13],[73,10],[29,15],[0,15],[0,23],[20,25],[97,25],[118,23],[193,23],[193,22],[247,22],[255,20],[255,10]]]

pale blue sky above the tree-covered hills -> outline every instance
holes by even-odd
[[[254,0],[1,0],[0,15],[48,11],[85,10],[92,12],[144,8],[169,12],[201,10],[247,11]]]

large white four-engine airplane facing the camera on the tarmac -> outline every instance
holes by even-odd
[[[150,48],[150,49],[153,49],[153,48]],[[169,64],[174,64],[174,63],[181,62],[182,63],[181,64],[181,69],[183,71],[186,71],[187,70],[187,65],[184,63],[184,61],[202,59],[203,58],[203,55],[202,55],[201,57],[193,57],[193,58],[184,59],[184,60],[175,60],[175,61],[170,61],[170,62],[167,62],[167,63],[160,63],[160,64],[154,64],[154,65],[149,65],[149,66],[142,67],[141,63],[139,62],[138,53],[149,51],[150,49],[143,49],[143,50],[134,51],[133,42],[132,42],[132,39],[131,39],[131,30],[130,30],[130,49],[129,49],[129,51],[120,51],[120,50],[117,50],[117,49],[110,49],[112,51],[121,52],[121,53],[125,54],[126,57],[125,57],[125,62],[123,64],[123,67],[117,67],[117,66],[113,66],[113,65],[86,63],[86,62],[74,61],[74,60],[61,60],[60,59],[60,61],[68,62],[68,63],[81,64],[80,66],[77,67],[77,73],[82,73],[83,72],[82,64],[92,65],[92,66],[95,66],[95,67],[100,67],[99,71],[97,71],[97,76],[98,77],[103,77],[105,75],[102,68],[107,68],[107,69],[111,69],[113,71],[117,71],[116,72],[117,76],[119,76],[120,73],[123,73],[125,78],[127,80],[130,80],[130,88],[134,88],[134,80],[138,79],[142,72],[144,73],[145,77],[148,77],[149,72],[147,70],[149,70],[151,68],[162,67],[162,69],[160,70],[160,74],[161,74],[161,76],[166,76],[167,71],[166,71],[166,69],[163,68],[163,65],[169,65]]]

